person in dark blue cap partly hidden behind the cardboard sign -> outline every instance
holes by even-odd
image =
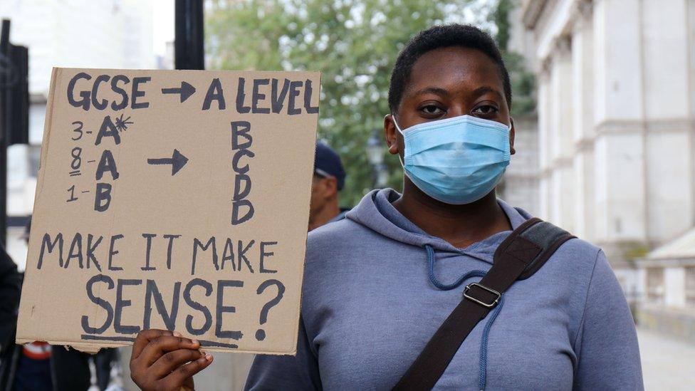
[[[340,156],[323,142],[316,142],[314,176],[311,181],[309,231],[345,218],[349,209],[341,208],[338,193],[345,186],[345,170]]]

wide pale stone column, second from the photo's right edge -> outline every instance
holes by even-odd
[[[595,242],[614,266],[646,239],[641,1],[594,3]],[[615,262],[615,263],[614,263]]]

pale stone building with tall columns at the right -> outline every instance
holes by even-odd
[[[521,0],[511,24],[539,216],[605,250],[638,320],[691,339],[695,269],[672,250],[695,246],[695,0]]]

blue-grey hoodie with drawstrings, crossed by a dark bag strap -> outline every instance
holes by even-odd
[[[297,355],[258,355],[249,390],[390,390],[461,300],[451,283],[486,271],[503,231],[466,249],[400,214],[391,189],[307,241]],[[531,216],[500,206],[516,229]],[[637,334],[603,252],[571,239],[517,281],[469,334],[435,390],[642,390]],[[491,317],[496,314],[493,323]],[[486,337],[484,329],[487,325]],[[484,343],[486,339],[486,343]]]

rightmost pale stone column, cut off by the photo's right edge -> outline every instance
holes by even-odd
[[[669,241],[693,224],[689,51],[694,42],[687,14],[686,1],[642,2],[645,198],[652,244]]]

